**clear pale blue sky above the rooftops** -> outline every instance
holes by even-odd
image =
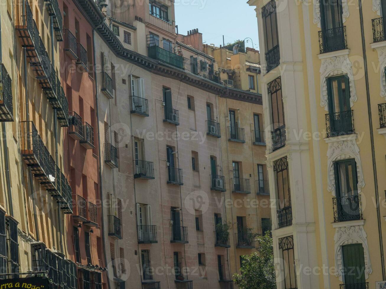
[[[257,18],[254,7],[247,0],[175,0],[178,32],[198,29],[206,44],[225,44],[251,37],[253,46],[259,49]],[[248,40],[248,43],[246,41]],[[245,40],[252,47],[250,39]]]

